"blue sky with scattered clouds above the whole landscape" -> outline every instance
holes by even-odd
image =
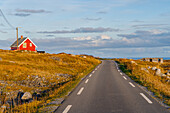
[[[0,0],[0,49],[19,36],[47,53],[170,57],[170,0]]]

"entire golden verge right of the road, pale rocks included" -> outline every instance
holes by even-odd
[[[170,60],[165,60],[164,63],[132,59],[115,61],[132,80],[145,86],[154,96],[170,106]]]

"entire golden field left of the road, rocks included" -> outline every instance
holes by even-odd
[[[41,112],[100,63],[92,56],[0,50],[0,112]]]

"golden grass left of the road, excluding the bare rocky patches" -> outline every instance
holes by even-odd
[[[61,98],[68,94],[89,72],[101,61],[92,56],[82,58],[71,54],[39,54],[34,52],[0,50],[0,80],[8,84],[1,84],[3,92],[22,89],[24,92],[34,93],[37,89],[50,91],[40,100],[16,106],[13,112],[37,112],[47,102]],[[57,76],[67,74],[68,77]],[[28,87],[21,85],[23,80],[33,80],[33,76],[44,78],[46,87]],[[52,85],[52,83],[57,85]],[[59,84],[58,84],[59,83]],[[11,85],[12,84],[12,85]]]

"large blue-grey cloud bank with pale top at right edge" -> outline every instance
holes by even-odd
[[[134,47],[170,46],[170,32],[160,30],[136,31],[132,34],[119,34],[122,41]],[[130,46],[130,45],[129,45]]]

